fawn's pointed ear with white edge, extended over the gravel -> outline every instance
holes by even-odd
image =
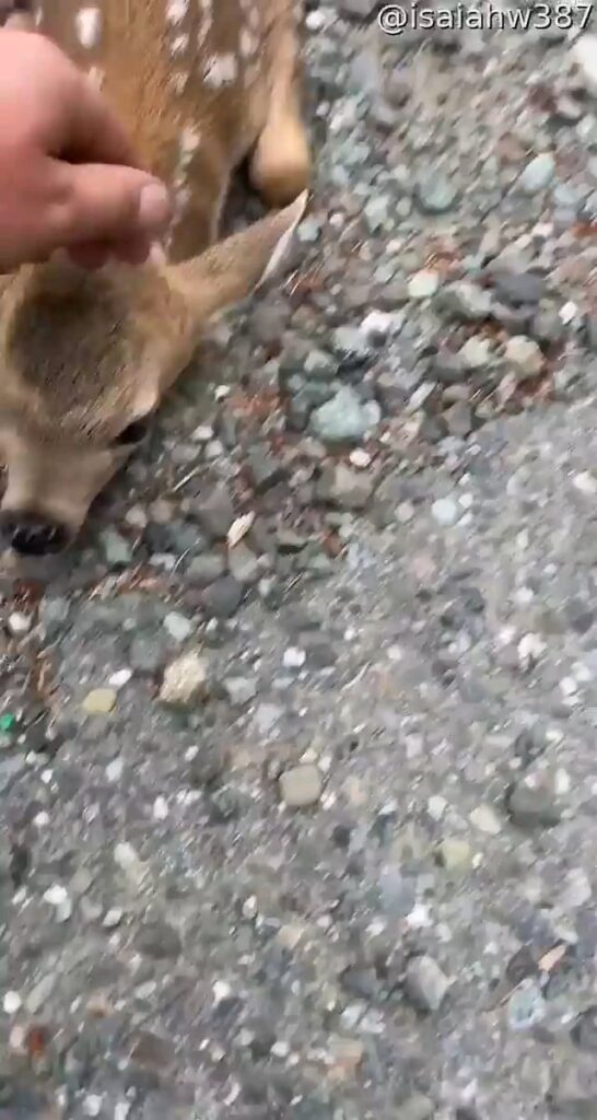
[[[280,273],[307,198],[308,192],[304,190],[284,209],[166,270],[172,288],[185,297],[197,326],[246,299]]]

